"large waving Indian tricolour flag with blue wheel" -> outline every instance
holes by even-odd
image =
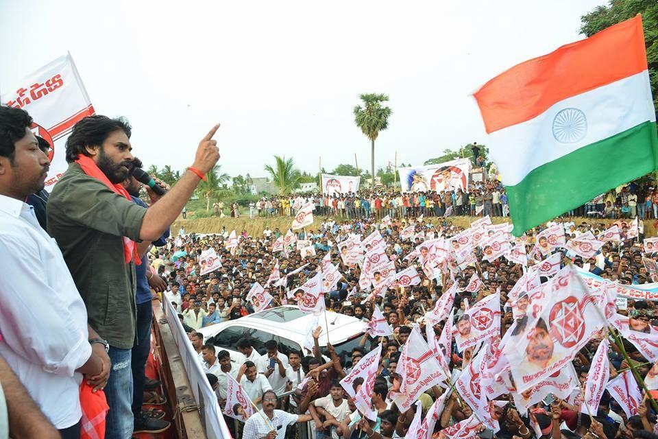
[[[522,62],[474,97],[516,236],[657,168],[639,15]]]

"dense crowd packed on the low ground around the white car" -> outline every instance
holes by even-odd
[[[620,189],[620,193],[628,193],[630,190],[635,189],[624,187]],[[421,213],[418,212],[417,215]],[[611,226],[617,226],[618,235],[605,241],[600,250],[590,257],[579,256],[566,248],[552,248],[550,252],[543,254],[539,252],[539,248],[546,243],[542,241],[541,233],[545,233],[551,226],[557,226],[567,240],[588,239],[590,234],[603,239]],[[413,228],[413,233],[403,233],[409,227]],[[397,281],[391,281],[382,291],[373,281],[373,293],[369,287],[360,283],[363,281],[362,270],[365,270],[363,261],[346,261],[339,249],[355,235],[366,237],[373,232],[382,236],[385,252],[393,262],[395,272],[400,273],[410,267],[417,269],[417,285],[404,286]],[[558,265],[573,264],[615,285],[640,286],[657,281],[658,278],[655,268],[650,265],[653,260],[648,259],[652,252],[645,250],[642,244],[642,222],[639,222],[634,233],[630,221],[618,220],[614,224],[596,221],[575,223],[568,218],[528,230],[524,237],[514,241],[527,250],[526,264],[512,262],[507,257],[488,261],[483,248],[474,248],[474,262],[455,268],[454,272],[446,270],[445,267],[441,274],[426,270],[422,251],[415,250],[422,248],[425,241],[429,243],[437,238],[450,241],[464,232],[463,228],[452,224],[449,217],[419,219],[402,215],[400,218],[391,219],[387,224],[378,221],[374,216],[354,217],[342,221],[326,220],[294,233],[289,230],[270,230],[266,227],[263,235],[239,235],[239,244],[235,248],[227,248],[231,234],[226,229],[210,235],[180,233],[178,237],[170,238],[169,244],[164,248],[151,251],[154,267],[169,284],[164,295],[180,312],[182,324],[199,353],[199,361],[216,389],[220,407],[223,410],[229,408],[226,404],[230,375],[241,384],[245,394],[261,410],[260,414],[248,416],[244,411],[239,411],[239,407],[234,407],[235,413],[240,412],[241,416],[246,418],[246,423],[242,423],[226,417],[234,436],[306,437],[307,428],[310,428],[317,438],[470,438],[477,434],[489,437],[486,436],[488,427],[485,428],[485,423],[479,421],[475,423],[475,430],[470,433],[454,431],[455,425],[463,427],[464,423],[468,423],[475,415],[470,404],[465,402],[465,396],[459,391],[452,392],[449,385],[433,385],[418,396],[422,407],[421,419],[432,417],[431,409],[437,401],[441,403],[441,410],[435,413],[436,423],[427,436],[413,436],[415,433],[410,433],[410,429],[415,432],[417,427],[414,424],[415,407],[400,410],[393,399],[400,389],[400,358],[415,324],[419,324],[420,333],[426,341],[426,325],[430,325],[430,333],[438,339],[446,324],[450,327],[454,324],[452,335],[458,337],[458,333],[470,331],[475,324],[468,318],[469,304],[474,306],[493,294],[500,294],[502,316],[500,332],[496,335],[496,340],[500,342],[500,337],[504,340],[508,331],[515,331],[515,325],[524,321],[521,311],[531,309],[531,303],[528,305],[531,300],[529,289],[522,289],[520,294],[514,290],[515,285],[524,278],[528,270],[537,268],[555,254],[559,256]],[[278,239],[291,234],[291,244],[287,244],[285,250],[273,251]],[[314,254],[306,252],[307,256],[302,257],[302,252],[294,245],[295,240],[307,241],[305,245],[313,246]],[[535,246],[535,243],[538,246]],[[209,248],[216,250],[221,257],[222,266],[216,271],[200,275],[202,265],[199,263],[199,256]],[[366,250],[363,249],[364,252]],[[234,346],[234,351],[242,354],[238,358],[234,353],[231,354],[212,343],[204,345],[204,335],[197,332],[202,327],[239,319],[257,311],[254,304],[247,300],[256,283],[263,285],[265,292],[271,294],[269,307],[295,304],[298,300],[303,300],[299,287],[313,279],[321,267],[328,264],[337,266],[341,280],[325,292],[326,310],[354,316],[363,320],[364,326],[367,322],[376,320],[376,310],[381,311],[385,324],[391,329],[391,335],[381,338],[364,335],[361,346],[350,353],[336,353],[330,345],[320,348],[317,340],[323,334],[322,326],[308,329],[315,340],[314,348],[292,350],[285,355],[278,350],[279,346],[274,340],[260,346],[258,352],[254,348],[256,341],[243,337]],[[271,281],[271,274],[277,269],[280,276],[286,278],[284,285]],[[294,274],[288,275],[289,273]],[[375,277],[378,275],[380,276],[379,273],[375,274]],[[480,280],[481,285],[471,288],[474,276]],[[554,278],[553,275],[550,278],[539,275],[537,277],[542,285]],[[428,312],[435,308],[437,302],[453,287],[456,294],[450,302],[450,307],[454,306],[454,315],[450,315],[452,320],[428,320]],[[658,310],[652,300],[627,300],[626,304],[616,311],[619,316],[631,317],[631,327],[641,325],[649,329],[646,332],[650,331],[652,334],[658,331],[653,327],[654,324],[658,325]],[[572,370],[583,386],[587,384],[589,371],[594,368],[594,354],[604,339],[605,335],[598,333],[570,361],[569,370]],[[658,342],[658,338],[655,342]],[[381,349],[381,355],[369,394],[369,402],[377,414],[373,419],[367,419],[362,418],[363,412],[357,409],[354,397],[348,394],[340,380],[350,375],[350,371],[367,353],[378,348]],[[537,344],[533,349],[539,349]],[[449,375],[453,376],[467,370],[467,365],[478,355],[477,346],[475,350],[467,348],[460,351],[456,344],[450,344],[448,350],[446,368]],[[628,353],[628,357],[624,357],[622,350]],[[618,373],[630,370],[633,365],[637,368],[638,377],[650,383],[648,377],[653,376],[650,371],[653,370],[652,364],[658,357],[643,357],[646,353],[640,351],[631,340],[623,340],[622,346],[611,343],[606,354],[611,379]],[[270,364],[271,359],[273,364]],[[541,385],[535,387],[542,388]],[[555,387],[556,393],[559,393],[558,389],[559,386]],[[650,385],[650,389],[650,392],[658,390],[658,385]],[[564,389],[561,391],[564,393]],[[446,397],[441,399],[444,395]],[[653,393],[645,394],[644,399],[637,401],[634,411],[627,414],[624,412],[623,403],[618,402],[616,396],[606,390],[597,403],[597,410],[591,413],[592,416],[581,407],[581,387],[575,383],[570,383],[566,394],[553,396],[548,392],[544,396],[546,398],[535,400],[527,407],[518,403],[520,396],[515,394],[513,385],[496,396],[493,400],[496,409],[493,410],[492,417],[497,420],[500,430],[493,434],[499,438],[524,439],[562,436],[601,438],[604,435],[608,438],[654,437],[655,410],[649,401],[655,396]],[[306,427],[304,423],[308,423],[310,427]],[[408,434],[412,436],[406,436]]]

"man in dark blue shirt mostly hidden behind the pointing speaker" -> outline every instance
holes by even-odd
[[[142,167],[142,162],[134,158],[134,167]],[[135,204],[142,207],[148,207],[145,202],[139,199],[139,190],[141,183],[134,177],[130,176],[123,182],[123,186],[130,193],[130,198]],[[165,231],[162,236],[153,241],[153,245],[162,247],[167,244],[169,230]],[[169,428],[169,422],[162,419],[151,418],[142,413],[142,403],[144,389],[146,385],[146,361],[151,351],[151,320],[153,320],[153,309],[151,308],[151,287],[156,292],[164,292],[167,287],[160,276],[151,272],[149,268],[149,259],[147,254],[142,255],[142,263],[135,265],[135,278],[137,283],[135,304],[137,307],[136,316],[136,337],[137,342],[132,348],[132,413],[135,416],[134,433],[160,433]],[[155,383],[158,384],[157,382]]]

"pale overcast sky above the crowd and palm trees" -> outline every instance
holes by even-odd
[[[487,144],[471,96],[518,62],[581,40],[605,0],[0,2],[0,90],[70,51],[97,113],[124,116],[146,167],[184,169],[215,123],[221,171],[370,167],[361,93],[393,114],[375,165]]]

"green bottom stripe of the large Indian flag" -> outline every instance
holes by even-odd
[[[613,187],[655,171],[657,165],[656,123],[650,121],[541,165],[517,185],[505,187],[513,234],[520,236]]]

